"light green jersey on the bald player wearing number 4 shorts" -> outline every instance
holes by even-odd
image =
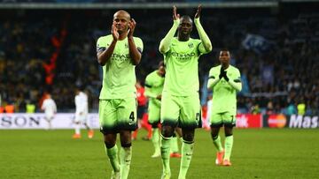
[[[97,40],[97,50],[108,48],[113,41],[112,34]],[[143,41],[134,37],[136,48],[143,50]],[[113,55],[103,66],[103,86],[99,99],[124,99],[136,97],[135,65],[129,56],[128,38],[117,41]]]

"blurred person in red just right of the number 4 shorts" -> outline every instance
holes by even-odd
[[[147,98],[144,94],[145,89],[141,85],[139,80],[136,81],[136,97],[137,97],[137,123],[138,129],[133,132],[132,139],[137,138],[137,132],[140,128],[144,128],[147,131],[147,136],[142,139],[150,140],[152,138],[152,126],[148,123],[148,115],[146,113]]]

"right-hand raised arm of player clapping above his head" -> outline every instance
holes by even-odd
[[[198,50],[201,53],[206,54],[206,53],[212,51],[213,46],[212,46],[212,42],[209,40],[209,37],[203,28],[203,26],[201,26],[201,24],[200,24],[200,21],[199,21],[200,12],[201,12],[201,5],[199,4],[198,11],[195,14],[194,24],[198,30],[198,35],[199,35],[199,38],[201,41],[201,43],[198,46]]]

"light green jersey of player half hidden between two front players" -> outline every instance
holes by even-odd
[[[158,71],[152,71],[145,79],[145,95],[150,98],[150,102],[160,106],[160,101],[156,97],[162,93],[164,77],[159,76]]]

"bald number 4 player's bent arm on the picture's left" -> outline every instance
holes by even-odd
[[[111,56],[113,55],[116,42],[119,39],[119,33],[117,32],[115,23],[113,23],[111,34],[113,35],[113,41],[108,48],[102,47],[100,45],[100,39],[97,40],[97,62],[101,66],[104,66],[105,63],[110,60]]]

